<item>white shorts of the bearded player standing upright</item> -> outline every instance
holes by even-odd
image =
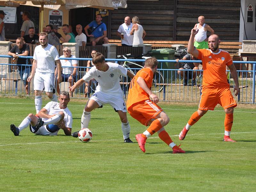
[[[36,72],[34,77],[34,90],[55,93],[54,73]]]

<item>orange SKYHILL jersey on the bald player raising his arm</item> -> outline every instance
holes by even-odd
[[[221,49],[218,53],[210,49],[198,49],[198,52],[198,59],[202,60],[204,70],[203,86],[229,86],[226,66],[233,64],[229,53]]]

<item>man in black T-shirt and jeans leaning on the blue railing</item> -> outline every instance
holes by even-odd
[[[8,55],[12,56],[17,60],[17,69],[20,74],[20,79],[25,85],[26,94],[29,94],[29,86],[28,86],[28,76],[29,76],[29,68],[28,66],[21,65],[31,65],[30,59],[19,58],[19,56],[28,56],[29,55],[29,45],[23,42],[23,38],[18,37],[16,39],[16,45],[8,52]]]

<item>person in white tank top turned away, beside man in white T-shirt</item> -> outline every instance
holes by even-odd
[[[140,25],[139,18],[134,16],[132,18],[132,30],[130,35],[133,35],[133,43],[132,46],[143,44],[143,39],[146,36],[146,32],[144,31],[143,27]]]

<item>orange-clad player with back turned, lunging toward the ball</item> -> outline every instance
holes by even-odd
[[[148,137],[154,133],[167,145],[169,145],[172,153],[185,153],[170,138],[169,134],[164,130],[164,126],[169,123],[169,117],[164,113],[156,103],[159,98],[151,92],[152,81],[156,73],[158,61],[155,57],[151,57],[145,61],[145,68],[137,72],[132,78],[128,99],[127,110],[129,114],[137,119],[141,124],[146,125],[148,129],[142,134],[136,135],[140,149],[145,152],[145,143]],[[152,100],[150,100],[151,98]]]

